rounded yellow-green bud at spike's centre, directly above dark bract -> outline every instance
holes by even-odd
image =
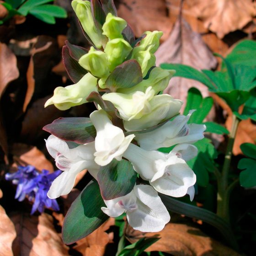
[[[130,44],[122,38],[112,39],[107,42],[104,52],[107,53],[110,71],[123,63],[132,49]]]

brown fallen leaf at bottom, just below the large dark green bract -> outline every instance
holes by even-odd
[[[115,225],[115,219],[109,218],[103,225],[85,238],[77,241],[73,248],[82,253],[83,256],[103,256],[106,246],[113,242],[113,232],[105,231]]]

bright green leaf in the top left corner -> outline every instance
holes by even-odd
[[[67,12],[62,7],[46,4],[48,2],[53,2],[53,0],[6,0],[2,5],[8,10],[8,16],[0,21],[0,24],[16,14],[23,16],[31,14],[49,24],[55,24],[55,17],[67,17]]]

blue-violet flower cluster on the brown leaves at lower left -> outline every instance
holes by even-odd
[[[15,199],[21,202],[27,196],[29,201],[34,202],[31,214],[36,210],[43,213],[44,207],[59,211],[56,199],[50,199],[47,192],[60,172],[58,170],[49,173],[49,171],[43,170],[42,173],[39,173],[32,165],[18,166],[18,171],[5,174],[5,179],[17,185]]]

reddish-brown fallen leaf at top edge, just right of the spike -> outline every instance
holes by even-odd
[[[141,37],[145,31],[164,32],[162,41],[171,32],[170,20],[166,13],[165,0],[118,0],[117,14],[132,27],[135,37]]]

